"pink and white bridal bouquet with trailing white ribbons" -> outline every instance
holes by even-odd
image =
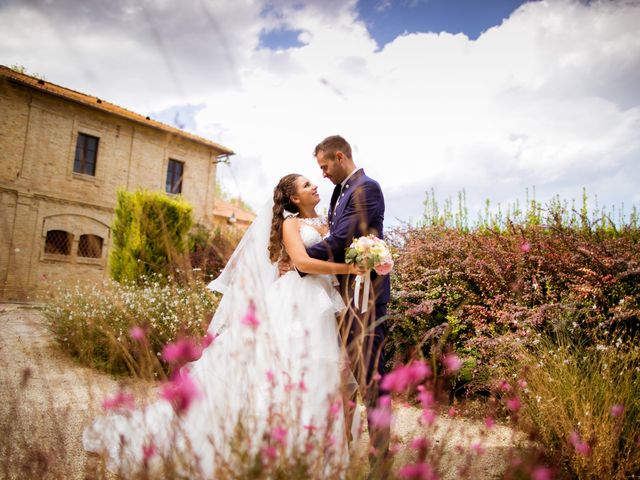
[[[351,242],[345,253],[345,262],[355,263],[367,270],[375,270],[378,275],[387,275],[393,268],[393,258],[389,247],[384,240],[379,239],[375,235],[359,237]],[[362,292],[362,302],[360,303],[360,311],[366,312],[369,305],[369,290],[371,288],[371,277],[369,273],[358,275],[356,277],[356,285],[353,292],[353,303],[358,308],[358,299],[360,297],[360,285],[364,277],[364,291]]]

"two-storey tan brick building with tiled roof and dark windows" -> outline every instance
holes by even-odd
[[[0,66],[0,299],[108,275],[119,188],[165,190],[212,226],[210,140]]]

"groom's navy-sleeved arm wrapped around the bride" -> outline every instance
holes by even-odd
[[[370,225],[376,223],[376,217],[383,215],[384,199],[382,190],[375,182],[366,182],[353,192],[351,201],[344,213],[335,219],[333,233],[322,242],[307,248],[312,258],[343,262],[346,248],[355,236],[368,235]]]

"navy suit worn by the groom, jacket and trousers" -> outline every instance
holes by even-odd
[[[331,197],[328,220],[329,236],[324,241],[307,248],[307,253],[312,258],[342,263],[345,259],[345,250],[351,245],[354,238],[369,234],[383,238],[384,197],[378,182],[367,177],[364,171],[360,169],[347,180],[342,189],[340,184],[336,185]],[[353,276],[338,275],[341,292],[347,300],[353,298],[352,280]],[[362,315],[359,309],[350,309],[351,312],[356,312],[360,314],[359,316],[366,317],[364,320],[366,320],[369,328],[374,322],[380,321],[376,325],[374,332],[367,334],[365,342],[367,350],[367,352],[364,352],[365,361],[367,362],[365,365],[367,385],[372,385],[372,379],[374,379],[376,372],[381,376],[384,374],[382,347],[387,332],[384,318],[387,315],[387,303],[391,290],[389,275],[378,276],[372,271],[371,280],[373,284],[373,301],[375,302],[375,318],[372,318],[370,312]],[[354,322],[348,332],[348,342],[353,342],[355,337],[361,333],[358,322]],[[374,406],[379,392],[370,393],[374,394],[365,399],[369,409]],[[371,429],[371,425],[369,427]],[[388,432],[380,433],[382,438],[380,442],[376,442],[379,443],[376,446],[384,449],[386,448],[384,444],[388,442]]]

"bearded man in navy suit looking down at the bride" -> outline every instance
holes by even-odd
[[[331,180],[335,189],[329,205],[329,236],[307,248],[307,253],[320,260],[344,262],[345,250],[354,238],[369,234],[383,238],[384,197],[378,182],[356,167],[351,146],[341,136],[325,138],[316,146],[314,156],[323,176]],[[370,307],[375,308],[369,308],[366,313],[352,302],[354,278],[339,275],[338,280],[349,306],[342,329],[347,338],[347,352],[358,383],[362,386],[366,382],[364,400],[370,414],[378,397],[385,393],[378,382],[384,375],[382,348],[387,332],[389,275],[378,276],[371,271],[373,294],[368,301]],[[378,428],[371,420],[368,423],[371,446],[377,452],[372,460],[374,463],[384,461],[389,449],[389,428]]]

